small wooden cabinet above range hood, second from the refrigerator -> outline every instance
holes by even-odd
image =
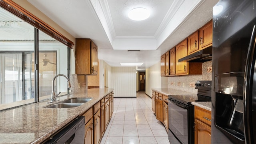
[[[198,35],[199,35],[199,32],[196,31],[188,37],[188,55],[199,50]]]

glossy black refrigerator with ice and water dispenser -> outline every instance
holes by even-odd
[[[212,144],[256,144],[256,0],[220,0],[212,22]]]

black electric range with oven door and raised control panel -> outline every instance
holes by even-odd
[[[168,96],[169,142],[194,144],[194,105],[191,102],[210,102],[212,81],[197,81],[195,95]]]

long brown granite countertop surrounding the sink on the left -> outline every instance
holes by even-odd
[[[52,105],[44,101],[0,112],[0,143],[42,143],[113,90],[93,88],[84,93],[57,97],[60,101],[52,103],[59,103],[69,98],[92,98],[89,102],[74,108],[44,108]]]

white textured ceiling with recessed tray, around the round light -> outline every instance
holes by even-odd
[[[110,66],[144,62],[145,70],[160,56],[212,19],[218,0],[28,0],[75,38],[91,38],[98,58]],[[148,8],[144,21],[128,19],[135,7]],[[128,52],[127,50],[141,50]]]

